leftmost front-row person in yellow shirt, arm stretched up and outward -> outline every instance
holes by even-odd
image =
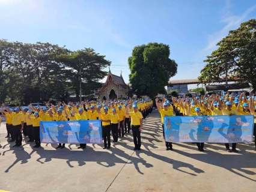
[[[4,105],[4,108],[7,110],[8,113],[11,114],[12,122],[13,122],[13,133],[15,138],[15,143],[13,147],[22,146],[22,130],[24,127],[24,115],[20,113],[19,107],[14,109],[12,112],[8,107]]]

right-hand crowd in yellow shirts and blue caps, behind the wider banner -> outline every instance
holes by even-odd
[[[156,98],[156,106],[162,118],[164,116],[208,116],[208,115],[254,115],[254,136],[256,132],[256,96],[246,96],[246,92],[240,95],[230,94],[212,94],[212,95],[192,95],[189,97],[172,97],[174,106],[172,106],[168,100],[163,98],[163,101],[159,103]],[[163,129],[163,137],[165,136]],[[204,143],[196,143],[198,151],[204,151]],[[166,150],[172,150],[172,143],[165,142]],[[225,147],[228,152],[238,152],[236,149],[236,143],[232,143],[230,149],[229,143],[225,143]],[[256,150],[256,142],[255,142]]]

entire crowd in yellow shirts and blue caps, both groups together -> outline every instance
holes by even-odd
[[[256,96],[243,92],[240,95],[227,93],[223,95],[192,95],[190,97],[172,97],[173,105],[163,98],[156,98],[156,107],[161,115],[163,137],[165,137],[165,116],[209,116],[209,115],[254,115],[254,136],[256,132]],[[7,112],[4,110],[6,109]],[[143,119],[153,110],[152,100],[110,100],[110,101],[82,101],[51,104],[47,107],[16,107],[8,109],[2,104],[1,112],[6,116],[8,142],[16,142],[13,147],[22,145],[22,133],[29,137],[28,142],[35,142],[34,148],[41,146],[40,121],[88,121],[99,119],[102,122],[103,149],[111,148],[112,143],[118,142],[118,137],[124,137],[132,130],[134,150],[141,150],[141,130]],[[1,119],[0,119],[1,122]],[[198,151],[204,151],[204,143],[196,143]],[[81,143],[80,148],[86,148],[86,143]],[[173,150],[172,143],[165,141],[166,150]],[[65,148],[65,143],[59,143],[56,148]],[[225,143],[228,152],[238,152],[236,143]],[[256,143],[255,143],[256,150]]]

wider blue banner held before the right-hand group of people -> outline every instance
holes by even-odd
[[[249,143],[253,115],[165,116],[166,142]]]

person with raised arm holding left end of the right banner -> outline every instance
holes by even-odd
[[[156,107],[161,115],[161,121],[162,121],[162,127],[163,127],[163,139],[165,139],[165,128],[164,128],[164,124],[163,124],[163,118],[165,116],[174,116],[174,115],[172,113],[172,110],[168,109],[168,103],[163,103],[163,109],[161,109],[161,107],[159,106],[159,103],[158,103],[158,98],[156,98]],[[172,142],[165,141],[165,146],[166,146],[166,151],[173,150]]]

